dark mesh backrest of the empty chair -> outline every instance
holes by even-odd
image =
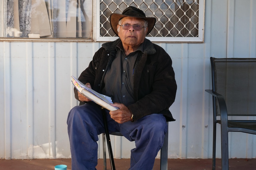
[[[256,116],[256,58],[210,59],[212,90],[225,98],[228,116]]]

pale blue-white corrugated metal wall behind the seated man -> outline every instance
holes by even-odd
[[[169,158],[211,158],[209,57],[256,57],[256,1],[206,0],[204,43],[159,43],[173,59],[178,91],[170,110]],[[69,158],[67,114],[78,76],[101,43],[0,42],[0,157]],[[220,126],[218,126],[220,132]],[[99,136],[102,158],[102,137]],[[116,158],[135,146],[111,136]],[[220,136],[217,135],[217,157]],[[255,158],[256,135],[229,133],[230,157]]]

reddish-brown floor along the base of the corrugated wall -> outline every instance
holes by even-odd
[[[129,169],[130,159],[115,159],[116,170]],[[67,170],[71,170],[71,159],[11,159],[0,160],[1,170],[54,170],[55,165],[65,164]],[[210,170],[212,166],[211,159],[168,159],[168,170]],[[98,160],[96,167],[103,170],[103,160]],[[160,169],[160,159],[156,159],[153,170]],[[216,170],[221,169],[220,159],[216,160]],[[255,170],[255,159],[230,159],[230,170]],[[110,161],[107,160],[107,170],[111,170]]]

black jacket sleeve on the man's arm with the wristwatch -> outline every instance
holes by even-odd
[[[138,101],[128,106],[135,121],[149,114],[166,112],[175,100],[177,84],[172,60],[164,49],[159,46],[155,48],[156,59],[146,62],[141,73]]]

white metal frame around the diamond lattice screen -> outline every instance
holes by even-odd
[[[93,39],[96,42],[115,41],[118,37],[101,37],[100,36],[100,4],[94,0],[94,35]],[[146,37],[152,42],[163,43],[203,43],[204,42],[204,15],[205,15],[205,0],[199,0],[199,16],[198,16],[198,37]]]

